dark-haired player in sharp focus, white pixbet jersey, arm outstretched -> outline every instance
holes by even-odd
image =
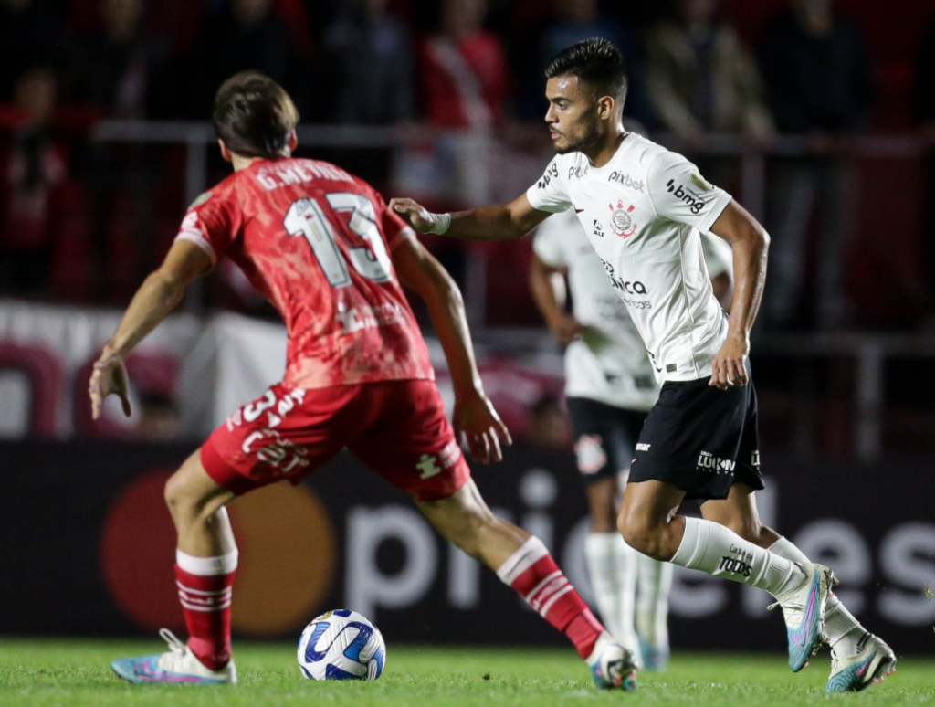
[[[390,208],[416,230],[478,240],[523,238],[550,213],[574,209],[662,385],[617,517],[624,540],[655,559],[770,592],[783,609],[792,671],[830,644],[827,691],[881,680],[895,668],[893,651],[833,595],[831,570],[756,512],[763,477],[747,355],[769,236],[682,155],[626,132],[623,57],[611,42],[592,38],[560,51],[546,77],[557,154],[525,194],[450,214],[406,198]],[[704,231],[733,248],[729,315],[701,257]],[[701,502],[701,518],[677,513],[686,498]]]

